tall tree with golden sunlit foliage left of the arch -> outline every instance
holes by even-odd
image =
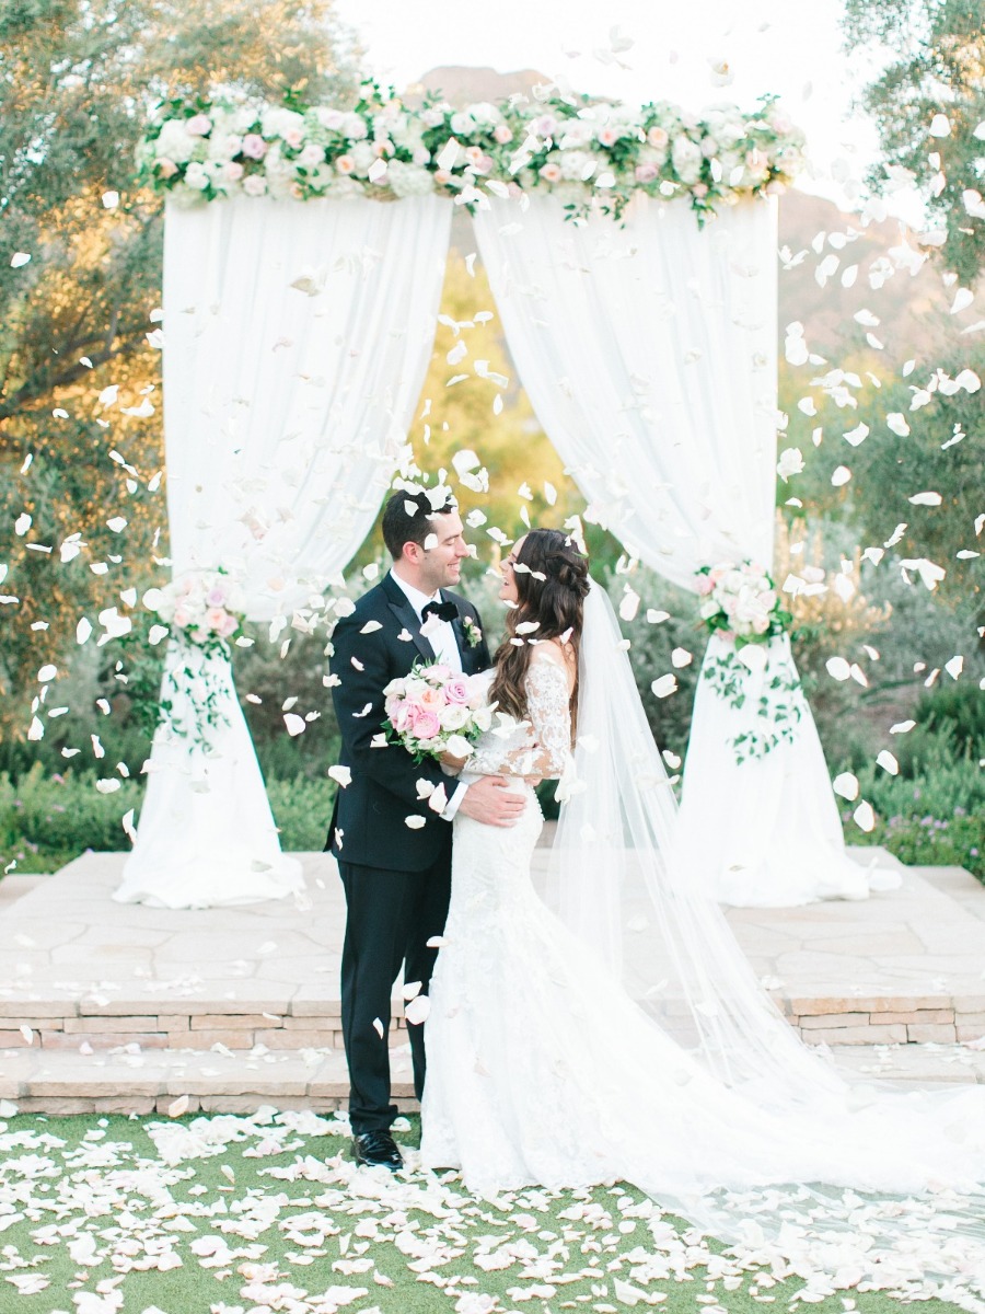
[[[8,728],[26,724],[11,695],[38,692],[37,669],[62,665],[77,619],[95,623],[167,555],[163,202],[135,187],[134,151],[154,102],[210,84],[344,100],[352,42],[331,0],[0,0]]]

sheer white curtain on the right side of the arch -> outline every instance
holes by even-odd
[[[561,198],[537,196],[492,201],[475,230],[511,355],[588,518],[691,590],[704,564],[768,568],[775,205],[724,209],[699,233],[683,201],[637,196],[620,227],[574,225]],[[741,765],[733,717],[700,679],[679,861],[730,903],[864,896],[809,710],[793,742]]]

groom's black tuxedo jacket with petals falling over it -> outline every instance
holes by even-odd
[[[490,665],[486,640],[482,637],[470,648],[464,625],[465,618],[470,618],[481,632],[478,611],[447,589],[441,590],[441,599],[453,602],[458,611],[452,629],[464,673],[485,670]],[[370,631],[364,633],[368,624]],[[339,620],[332,644],[331,670],[339,678],[332,687],[332,702],[341,732],[340,762],[351,769],[352,781],[335,796],[326,848],[343,862],[423,871],[437,861],[450,838],[450,827],[428,808],[427,799],[418,796],[416,782],[444,784],[449,795],[453,782],[432,759],[418,766],[406,749],[370,744],[383,733],[385,686],[410,674],[419,658],[435,661],[435,650],[422,635],[407,595],[389,574],[359,599],[351,616]],[[408,827],[408,816],[423,817],[424,825]]]

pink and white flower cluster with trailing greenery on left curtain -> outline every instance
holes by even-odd
[[[246,598],[236,581],[222,566],[215,570],[186,570],[164,585],[148,589],[144,607],[159,618],[150,627],[147,643],[156,646],[171,637],[180,661],[165,670],[160,700],[154,708],[159,724],[181,738],[208,748],[210,731],[229,725],[223,708],[227,682],[211,658],[230,657],[230,643],[252,644],[243,636]],[[183,677],[181,679],[179,677]],[[175,699],[181,695],[190,707],[190,724],[180,716]]]

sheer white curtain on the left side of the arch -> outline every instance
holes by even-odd
[[[251,198],[169,204],[164,431],[175,576],[240,574],[252,620],[290,616],[338,576],[378,511],[424,380],[452,206]],[[155,737],[122,901],[280,897],[281,854],[232,687],[208,749]],[[186,653],[168,674],[186,696]]]

